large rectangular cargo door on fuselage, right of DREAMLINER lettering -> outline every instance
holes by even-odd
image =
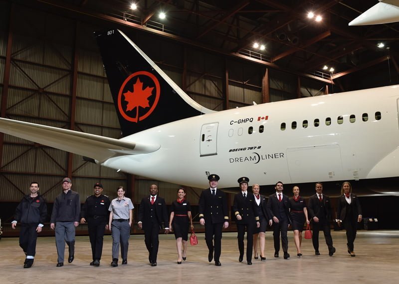
[[[319,145],[287,149],[291,181],[337,180],[342,174],[340,145]]]

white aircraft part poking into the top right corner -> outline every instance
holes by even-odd
[[[381,24],[399,21],[399,0],[380,2],[353,19],[349,25]]]

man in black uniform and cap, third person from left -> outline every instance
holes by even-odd
[[[94,194],[87,197],[82,206],[80,223],[87,222],[93,261],[90,265],[99,266],[103,252],[104,231],[108,229],[109,205],[108,196],[103,195],[103,185],[94,185]]]

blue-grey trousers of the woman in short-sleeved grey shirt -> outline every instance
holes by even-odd
[[[119,257],[119,244],[121,245],[122,260],[128,259],[130,226],[129,222],[112,221],[111,223],[112,234],[112,259]]]

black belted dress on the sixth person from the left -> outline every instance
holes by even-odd
[[[175,213],[172,227],[176,239],[182,238],[184,241],[189,239],[189,211],[191,211],[190,202],[185,199],[181,203],[177,202],[177,200],[172,203],[172,212]]]

